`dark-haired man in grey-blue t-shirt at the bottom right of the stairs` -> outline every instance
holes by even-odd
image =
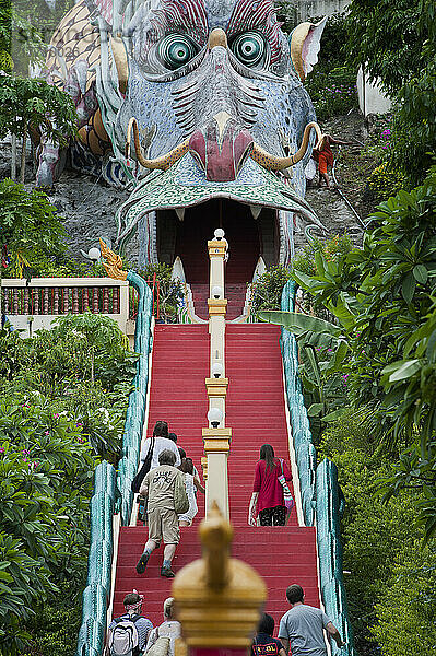
[[[344,642],[327,614],[319,608],[304,604],[304,591],[299,585],[290,585],[286,590],[288,610],[280,620],[279,640],[286,654],[292,656],[327,656],[325,631],[343,647]]]

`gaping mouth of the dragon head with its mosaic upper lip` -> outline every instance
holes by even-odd
[[[288,262],[295,214],[323,230],[288,181],[254,160],[246,160],[236,179],[216,183],[208,180],[187,153],[167,171],[150,173],[121,206],[118,245],[122,248],[140,224],[141,241],[148,250],[145,259],[172,263],[180,256],[187,267],[188,253],[197,253],[198,257],[205,251],[205,241],[211,238],[215,227],[222,226],[233,237],[229,239],[232,259],[247,261],[238,281],[247,282],[260,256],[267,266]],[[193,250],[192,239],[197,242],[199,235],[203,242]],[[256,244],[257,250],[250,258],[247,257],[248,243]],[[187,271],[188,282],[192,282],[188,276]]]

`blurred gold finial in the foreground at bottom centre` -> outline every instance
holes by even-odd
[[[186,565],[173,583],[177,619],[188,647],[250,646],[267,599],[259,574],[229,557],[233,528],[216,503],[199,529],[203,558]]]

